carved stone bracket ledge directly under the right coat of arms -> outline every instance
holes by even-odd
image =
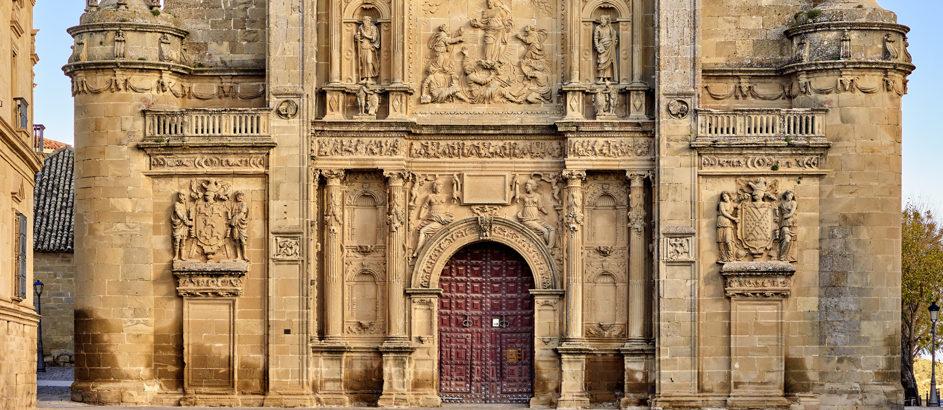
[[[784,261],[723,264],[724,294],[728,298],[788,298],[796,269]]]

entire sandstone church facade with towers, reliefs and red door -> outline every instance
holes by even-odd
[[[874,0],[89,0],[73,398],[900,408]]]

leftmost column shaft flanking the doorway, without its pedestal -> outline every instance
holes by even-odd
[[[343,170],[323,170],[324,185],[324,341],[343,344]]]

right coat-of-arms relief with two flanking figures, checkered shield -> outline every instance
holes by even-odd
[[[799,222],[793,189],[779,180],[736,179],[736,191],[720,192],[717,206],[718,263],[796,262]]]

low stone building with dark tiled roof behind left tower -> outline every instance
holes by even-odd
[[[42,353],[46,366],[71,366],[73,343],[74,150],[59,145],[36,174],[33,222],[33,275],[42,290]]]

